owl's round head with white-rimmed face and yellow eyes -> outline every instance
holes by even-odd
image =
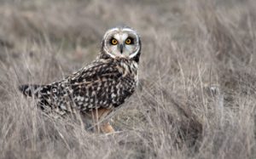
[[[111,58],[137,59],[141,50],[140,37],[130,27],[120,26],[108,30],[102,40],[102,52]]]

